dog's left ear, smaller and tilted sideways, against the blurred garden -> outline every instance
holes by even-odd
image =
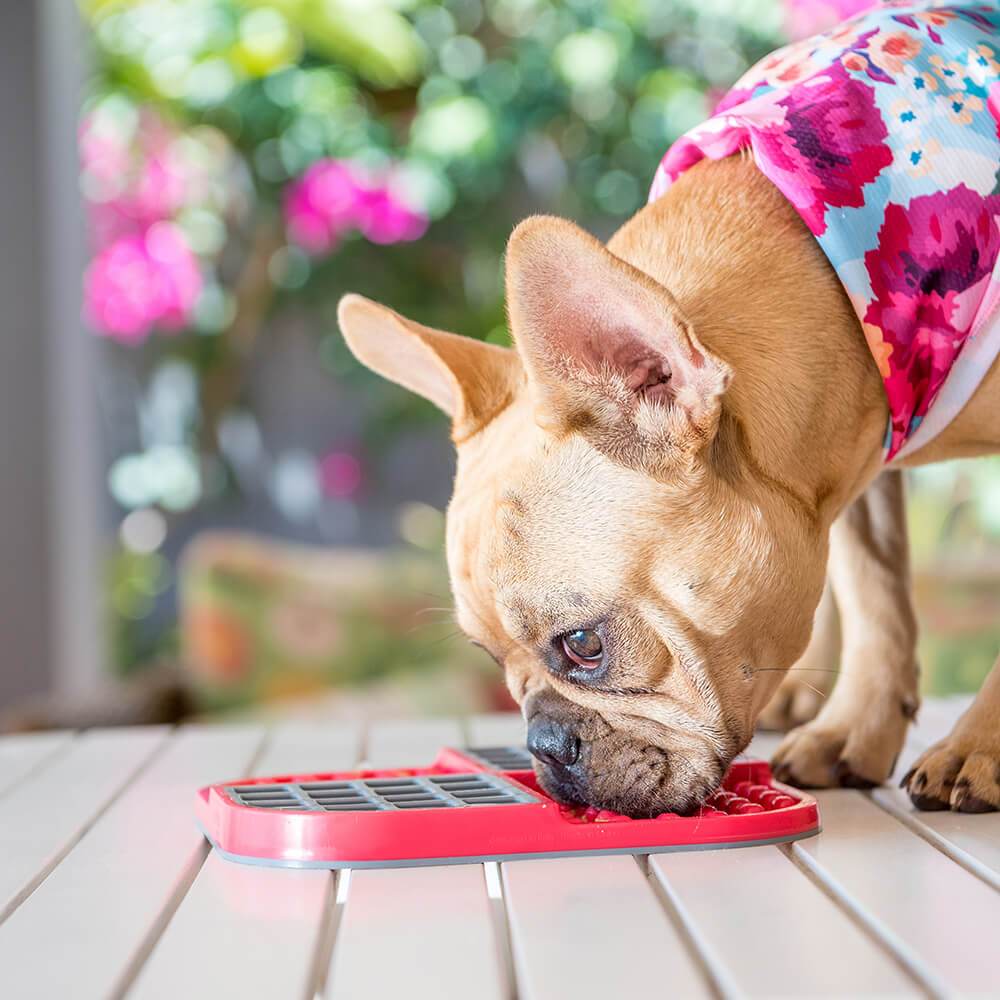
[[[451,417],[456,443],[489,423],[524,381],[509,348],[422,326],[360,295],[345,295],[337,318],[363,365]]]

